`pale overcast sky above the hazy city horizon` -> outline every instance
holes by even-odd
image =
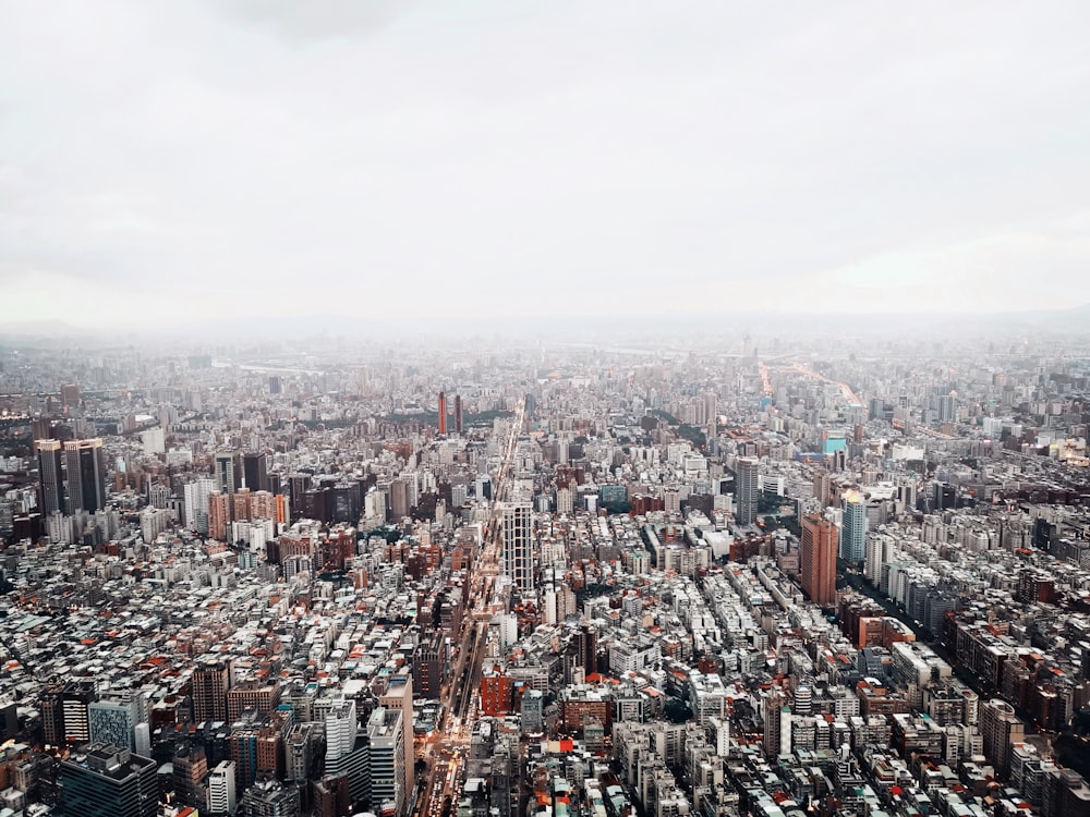
[[[1087,31],[1083,0],[0,0],[0,326],[1077,306]]]

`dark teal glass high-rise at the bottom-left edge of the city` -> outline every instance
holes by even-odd
[[[155,817],[156,764],[109,744],[92,744],[60,764],[61,813],[80,817]]]

